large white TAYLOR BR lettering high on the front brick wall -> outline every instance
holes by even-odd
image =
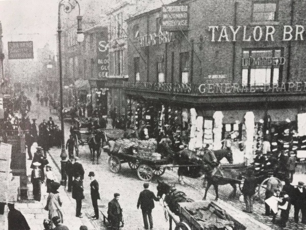
[[[280,30],[280,31],[278,31]],[[211,41],[274,41],[275,34],[282,41],[303,41],[305,28],[296,26],[209,26]]]

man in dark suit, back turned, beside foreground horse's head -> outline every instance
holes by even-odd
[[[142,211],[144,228],[149,229],[148,226],[148,219],[149,219],[150,229],[152,229],[153,228],[152,209],[154,209],[154,200],[159,201],[159,198],[157,198],[152,191],[148,190],[149,183],[144,183],[143,188],[144,190],[139,194],[137,209],[139,209],[140,206]]]

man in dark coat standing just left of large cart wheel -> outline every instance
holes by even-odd
[[[247,171],[246,178],[242,187],[242,194],[245,202],[245,210],[243,212],[252,213],[253,212],[253,198],[256,193],[257,178],[253,176],[253,171]]]

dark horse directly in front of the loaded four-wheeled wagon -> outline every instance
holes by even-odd
[[[200,177],[205,174],[204,172],[208,168],[215,168],[220,164],[220,160],[226,158],[230,164],[233,164],[233,153],[231,149],[221,149],[216,151],[201,150],[198,153],[184,149],[174,154],[174,162],[177,165],[182,165],[177,170],[179,175],[179,182],[184,185],[183,176],[189,176],[193,178]],[[184,165],[197,165],[184,167]]]

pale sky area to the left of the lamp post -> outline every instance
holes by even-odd
[[[49,43],[56,53],[58,0],[0,0],[5,53],[8,41],[33,41],[37,49]]]

